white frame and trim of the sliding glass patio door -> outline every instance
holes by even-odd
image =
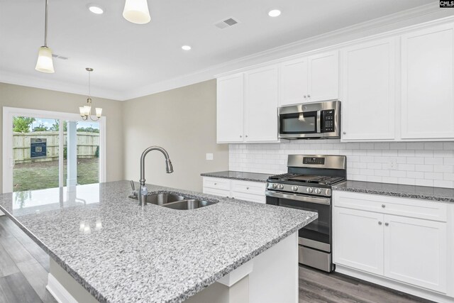
[[[11,170],[7,169],[8,167],[11,168],[10,161],[13,161],[13,150],[11,146],[13,146],[13,132],[12,132],[12,125],[13,125],[13,116],[31,116],[35,118],[42,118],[42,119],[56,119],[60,121],[60,125],[62,125],[62,120],[70,120],[70,121],[80,121],[82,120],[79,114],[73,113],[65,113],[61,111],[42,111],[39,109],[21,109],[16,107],[3,107],[3,192],[12,192],[13,191],[13,178],[11,176]],[[106,182],[106,117],[101,116],[99,119],[99,182]],[[60,146],[64,143],[64,138],[62,136],[62,127],[60,127]],[[59,150],[59,159],[63,159],[63,148]],[[60,171],[63,172],[63,162],[62,160],[59,161]],[[59,174],[59,185],[62,187],[63,185],[63,177]]]

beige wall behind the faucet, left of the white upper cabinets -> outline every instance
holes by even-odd
[[[140,155],[151,145],[167,150],[174,172],[167,174],[164,157],[152,151],[147,183],[201,191],[201,172],[228,169],[228,145],[216,144],[215,79],[124,101],[123,114],[126,179],[140,179]]]

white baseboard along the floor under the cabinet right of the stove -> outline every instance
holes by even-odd
[[[419,287],[414,287],[414,286],[407,285],[407,284],[397,282],[394,280],[389,280],[386,277],[379,277],[377,275],[372,275],[367,272],[362,272],[360,270],[348,268],[343,265],[336,264],[336,272],[339,272],[343,275],[348,275],[350,277],[356,277],[360,280],[365,280],[367,282],[372,282],[377,285],[388,287],[388,288],[391,288],[392,290],[398,290],[399,292],[406,292],[407,294],[412,294],[416,297],[421,297],[423,299],[429,299],[434,302],[454,303],[454,298],[448,297],[445,294],[441,294],[438,292],[432,292],[430,290],[423,290],[422,288],[419,288]]]

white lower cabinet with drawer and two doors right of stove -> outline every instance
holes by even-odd
[[[334,191],[333,205],[336,265],[425,290],[449,292],[452,277],[447,268],[453,264],[447,251],[453,239],[448,235],[446,204]]]

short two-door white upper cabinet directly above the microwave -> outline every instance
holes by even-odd
[[[338,99],[338,50],[282,62],[279,105]]]

